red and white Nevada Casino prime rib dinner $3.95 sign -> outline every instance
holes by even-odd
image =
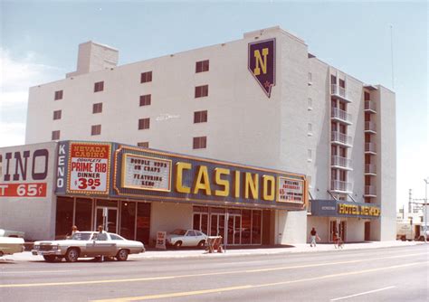
[[[109,193],[110,144],[71,143],[68,193]]]

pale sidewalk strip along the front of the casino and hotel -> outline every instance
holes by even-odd
[[[424,244],[419,241],[375,241],[375,242],[358,242],[346,243],[342,250],[366,250],[366,249],[380,249],[390,247],[405,247]],[[427,245],[429,249],[429,244]],[[181,259],[181,258],[207,258],[207,257],[236,257],[248,255],[273,255],[273,254],[287,254],[287,253],[300,253],[300,252],[322,252],[322,251],[335,251],[341,252],[341,249],[335,249],[332,243],[319,243],[317,247],[310,247],[310,244],[295,244],[287,247],[272,247],[267,249],[249,248],[249,249],[228,249],[224,253],[207,253],[205,250],[148,250],[147,252],[138,255],[129,255],[129,260],[161,260],[161,259]],[[38,261],[43,260],[42,256],[33,256],[30,251],[16,253],[14,255],[6,255],[0,257],[1,261]]]

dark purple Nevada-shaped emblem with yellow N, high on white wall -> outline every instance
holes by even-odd
[[[270,98],[275,85],[275,39],[249,43],[247,67]]]

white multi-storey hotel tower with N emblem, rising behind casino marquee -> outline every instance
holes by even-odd
[[[395,239],[395,94],[319,61],[279,27],[116,66],[81,44],[77,71],[30,89],[26,143],[120,141],[306,175],[310,203],[379,207],[377,216],[280,211],[274,243]],[[360,211],[360,210],[359,210]]]

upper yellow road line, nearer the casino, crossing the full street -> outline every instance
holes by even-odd
[[[89,284],[103,284],[103,283],[152,281],[152,280],[162,280],[162,279],[169,279],[169,278],[194,278],[194,277],[206,277],[206,276],[217,276],[217,275],[255,273],[255,272],[280,270],[280,269],[306,269],[306,268],[314,268],[314,267],[320,267],[320,266],[332,266],[332,265],[338,265],[338,264],[367,262],[367,261],[372,261],[372,260],[410,258],[412,256],[427,255],[427,254],[428,253],[423,252],[423,253],[398,255],[398,256],[391,256],[391,257],[380,257],[380,258],[372,258],[372,259],[364,259],[364,260],[347,260],[347,261],[338,261],[338,262],[328,262],[328,263],[305,264],[305,265],[289,266],[289,267],[269,268],[269,269],[243,269],[243,270],[230,270],[230,271],[219,271],[219,272],[211,272],[211,273],[176,275],[176,276],[165,276],[165,277],[102,279],[102,280],[48,282],[48,283],[0,284],[0,288],[33,288],[33,287],[52,287],[52,286],[70,286],[70,285],[89,285]]]

